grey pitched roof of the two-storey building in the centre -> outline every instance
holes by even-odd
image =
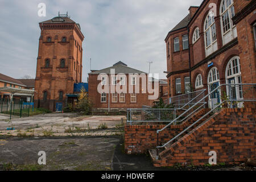
[[[118,74],[118,73],[123,73],[123,74],[145,73],[143,71],[139,71],[138,69],[127,67],[127,65],[125,63],[122,63],[121,61],[119,61],[119,62],[115,63],[112,67],[104,68],[104,69],[94,71],[94,72],[91,72],[88,74],[89,75],[97,75],[100,73],[110,74],[110,69],[115,69],[115,74]],[[145,73],[145,74],[147,74],[147,73]]]

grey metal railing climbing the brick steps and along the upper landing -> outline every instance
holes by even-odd
[[[224,87],[224,89],[222,90],[222,96],[220,97],[221,88],[223,88],[223,87]],[[249,87],[249,89],[245,89],[246,87]],[[170,144],[175,139],[180,137],[183,133],[185,133],[186,131],[191,129],[191,127],[195,126],[196,123],[198,123],[199,121],[201,121],[202,119],[207,117],[207,115],[209,115],[216,109],[220,109],[220,107],[230,107],[230,108],[242,107],[242,105],[245,102],[256,102],[255,93],[256,93],[256,84],[222,84],[222,85],[217,86],[216,88],[212,89],[212,91],[210,93],[208,93],[206,96],[204,96],[199,101],[197,101],[193,106],[189,107],[189,109],[184,111],[184,113],[180,114],[179,117],[175,118],[173,121],[168,123],[168,125],[163,127],[163,129],[156,131],[156,134],[157,134],[156,158],[158,159],[158,157],[159,157],[159,148],[166,147],[168,144]],[[220,99],[220,102],[217,102],[214,106],[212,105],[212,109],[210,111],[208,111],[208,113],[203,115],[203,117],[201,117],[200,119],[197,119],[196,122],[192,123],[192,125],[188,126],[186,129],[181,131],[181,133],[176,135],[174,138],[169,140],[167,143],[163,144],[162,146],[159,146],[159,133],[161,131],[167,129],[167,127],[171,126],[172,123],[175,123],[176,121],[178,121],[181,117],[183,117],[183,115],[185,115],[186,113],[189,113],[189,111],[196,108],[205,99],[209,98],[209,100],[213,100],[213,98],[217,97],[217,96],[220,97],[220,98],[218,98],[218,99]],[[239,104],[239,103],[242,103],[242,104]],[[255,105],[255,103],[254,103],[254,105]],[[193,113],[195,113],[195,112],[189,113],[187,115],[187,118],[189,116],[191,116]]]

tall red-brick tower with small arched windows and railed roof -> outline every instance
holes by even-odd
[[[39,23],[38,59],[35,78],[35,106],[56,110],[67,102],[74,84],[82,81],[80,25],[68,14]],[[58,110],[59,110],[58,109]]]

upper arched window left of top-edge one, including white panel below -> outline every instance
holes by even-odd
[[[217,35],[214,16],[207,15],[204,22],[204,37],[205,37],[205,55],[209,56],[214,51],[217,51]]]

